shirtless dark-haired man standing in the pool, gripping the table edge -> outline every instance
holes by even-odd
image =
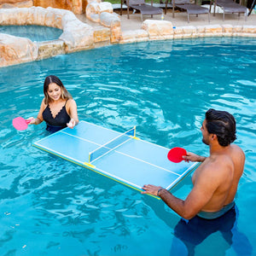
[[[158,195],[181,217],[190,219],[218,218],[235,206],[234,198],[242,175],[245,154],[233,143],[236,140],[236,120],[225,111],[209,109],[201,126],[202,141],[209,145],[210,156],[187,153],[187,161],[202,162],[192,177],[193,189],[185,201],[166,189],[144,185],[143,194]]]

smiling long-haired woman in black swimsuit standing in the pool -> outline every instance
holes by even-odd
[[[31,120],[29,125],[46,122],[47,131],[60,131],[65,127],[72,128],[79,123],[77,104],[61,80],[50,75],[44,80],[44,99],[38,117]]]

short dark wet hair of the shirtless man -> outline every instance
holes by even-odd
[[[216,134],[220,146],[226,147],[236,140],[236,120],[232,114],[211,108],[206,120],[207,131]]]

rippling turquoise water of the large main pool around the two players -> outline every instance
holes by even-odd
[[[204,38],[115,45],[0,69],[0,255],[256,255],[256,40]],[[208,108],[230,111],[247,160],[236,216],[184,227],[162,201],[47,154],[32,143],[44,78],[59,76],[79,118],[115,131],[207,155]],[[65,147],[65,142],[63,142]],[[187,177],[174,195],[185,198]]]

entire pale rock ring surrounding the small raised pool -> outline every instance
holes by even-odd
[[[63,30],[58,40],[44,43],[1,34],[1,67],[95,47],[93,28],[68,10],[50,7],[0,9],[0,25],[41,25]]]

